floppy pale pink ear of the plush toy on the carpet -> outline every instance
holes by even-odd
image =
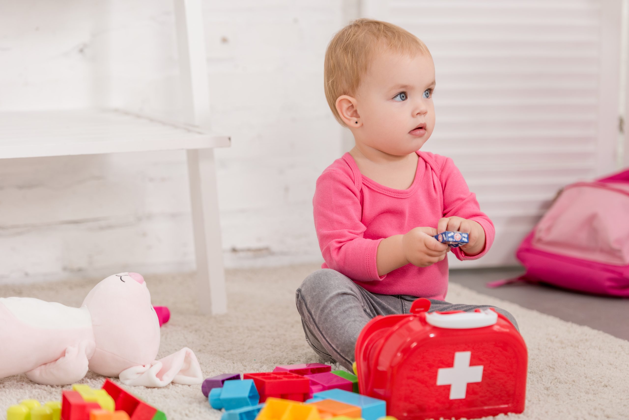
[[[174,382],[182,385],[199,385],[203,382],[201,365],[187,347],[148,365],[133,366],[118,375],[120,382],[131,386],[165,387]]]

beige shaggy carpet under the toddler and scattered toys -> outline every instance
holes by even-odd
[[[300,265],[229,271],[229,314],[214,318],[196,311],[191,275],[146,276],[153,304],[169,306],[172,312],[170,323],[162,328],[159,357],[187,346],[196,353],[206,377],[320,362],[304,341],[294,304],[294,290],[316,268]],[[30,296],[79,306],[96,281],[4,285],[0,296]],[[526,410],[518,416],[496,418],[629,419],[629,341],[457,284],[450,286],[448,301],[495,304],[511,311],[520,323],[529,350]],[[88,373],[83,382],[99,387],[103,378]],[[137,387],[132,392],[169,419],[220,418],[200,386]],[[60,399],[60,394],[61,387],[36,385],[24,376],[0,379],[0,418],[5,418],[9,405],[21,399],[47,401]]]

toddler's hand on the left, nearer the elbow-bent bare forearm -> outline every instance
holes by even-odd
[[[450,247],[433,238],[435,235],[435,228],[422,227],[413,228],[403,236],[402,249],[409,263],[417,267],[428,267],[445,258]]]

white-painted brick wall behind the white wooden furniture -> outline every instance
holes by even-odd
[[[0,111],[117,106],[176,118],[167,0],[4,1]],[[323,53],[343,4],[204,2],[226,265],[320,260],[316,177],[342,150]],[[183,152],[0,160],[0,282],[191,270]]]

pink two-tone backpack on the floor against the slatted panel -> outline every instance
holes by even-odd
[[[565,187],[516,253],[518,280],[629,297],[629,170]]]

